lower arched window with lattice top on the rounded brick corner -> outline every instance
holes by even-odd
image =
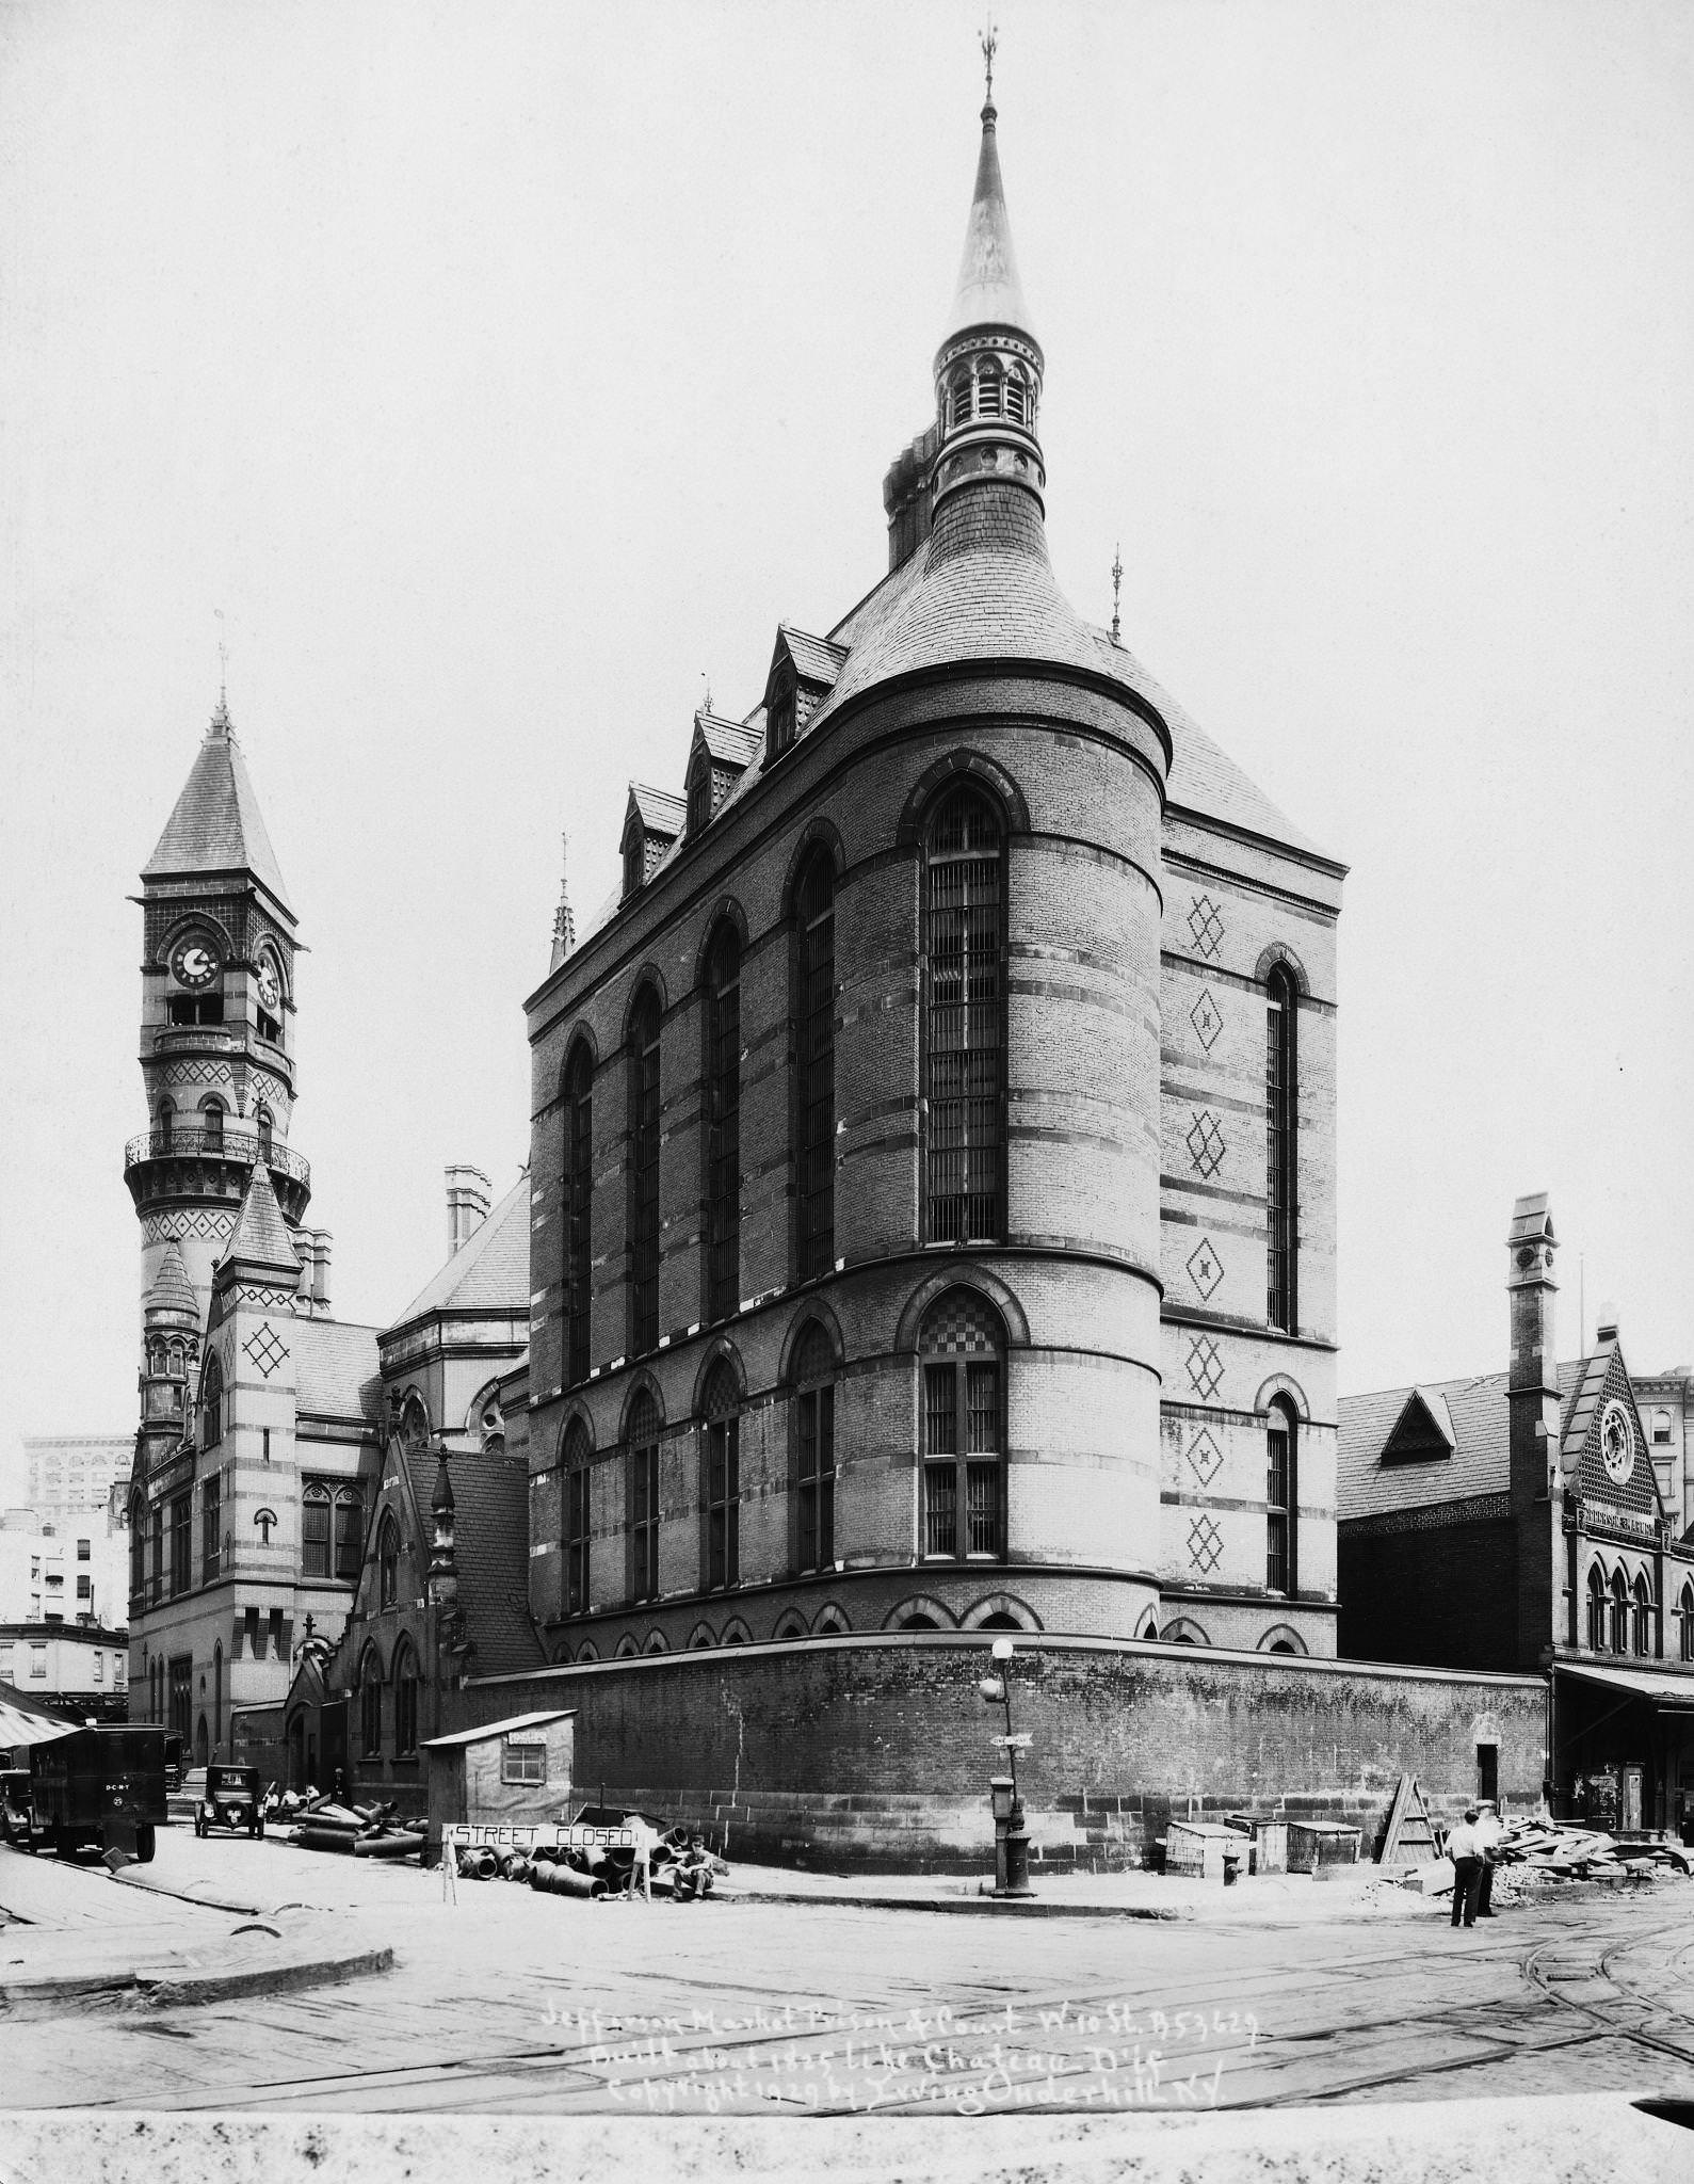
[[[969,1289],[950,1289],[923,1317],[926,1555],[1000,1559],[1006,1551],[1006,1337]]]

